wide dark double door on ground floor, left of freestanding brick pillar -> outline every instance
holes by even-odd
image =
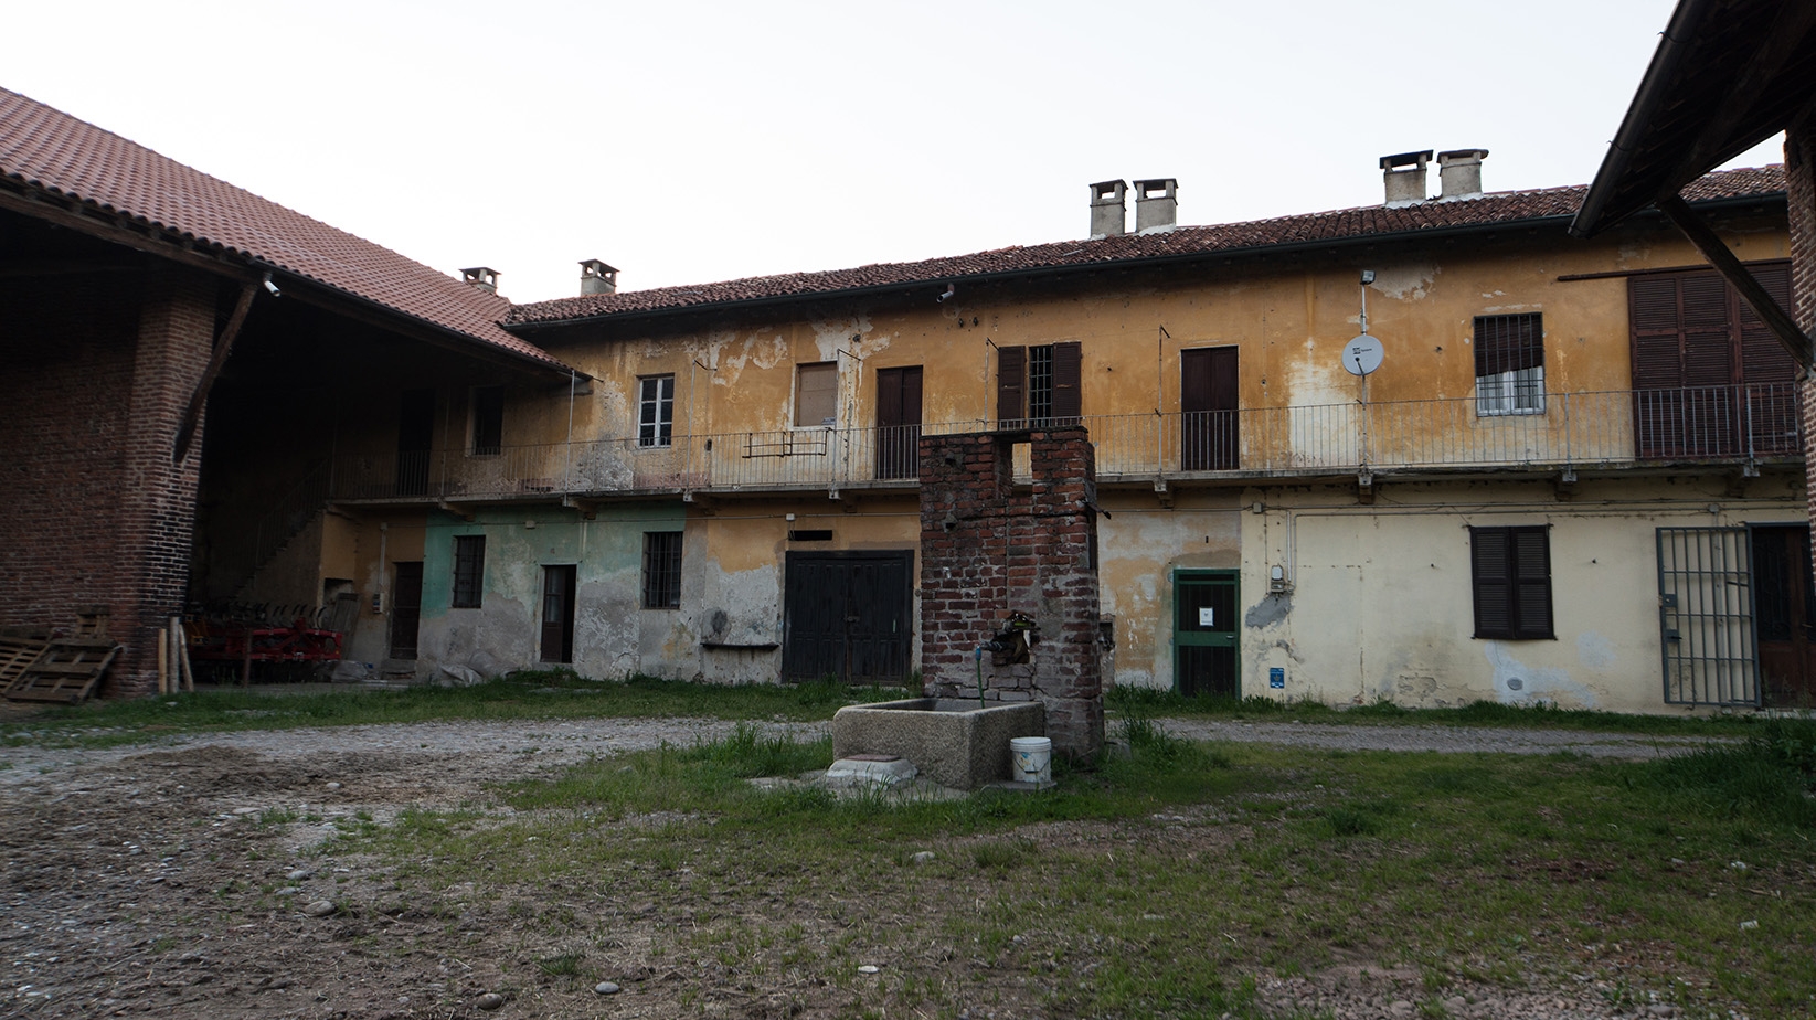
[[[912,550],[790,552],[783,679],[901,682],[908,675]]]

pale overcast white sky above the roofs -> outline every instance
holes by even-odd
[[[89,0],[9,9],[0,87],[541,301],[587,258],[641,290],[1077,240],[1115,178],[1177,178],[1180,223],[1373,205],[1418,149],[1587,183],[1673,5]]]

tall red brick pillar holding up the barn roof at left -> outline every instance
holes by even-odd
[[[171,448],[214,345],[214,294],[212,280],[169,267],[143,289],[113,521],[109,621],[125,650],[107,695],[156,693],[158,630],[183,612],[189,592],[202,436],[183,463],[171,463]]]

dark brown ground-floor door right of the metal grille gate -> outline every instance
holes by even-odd
[[[1752,528],[1752,619],[1765,704],[1816,706],[1816,577],[1807,525]]]

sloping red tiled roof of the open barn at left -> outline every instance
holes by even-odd
[[[498,325],[510,310],[510,301],[498,294],[5,89],[0,89],[0,176],[565,368]]]

